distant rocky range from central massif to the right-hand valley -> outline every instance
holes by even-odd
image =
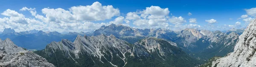
[[[224,56],[231,51],[238,41],[239,35],[232,32],[226,34],[220,31],[184,29],[172,31],[169,29],[136,29],[123,25],[111,24],[95,30],[93,35],[114,35],[116,38],[135,43],[143,38],[155,37],[177,44],[186,53],[198,59],[207,60],[213,56]]]

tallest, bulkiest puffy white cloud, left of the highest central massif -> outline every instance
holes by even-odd
[[[99,2],[94,2],[92,5],[87,6],[73,6],[70,12],[76,16],[77,20],[98,21],[111,19],[113,16],[119,16],[118,8],[113,8],[112,5],[102,6]]]

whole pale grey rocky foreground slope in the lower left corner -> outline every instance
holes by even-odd
[[[9,38],[0,40],[0,67],[54,67],[46,59],[16,46]]]

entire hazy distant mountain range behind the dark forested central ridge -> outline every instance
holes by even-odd
[[[98,36],[114,35],[116,38],[125,40],[134,44],[144,38],[160,38],[169,42],[176,43],[184,52],[197,59],[207,60],[213,56],[225,56],[233,51],[233,47],[239,40],[239,35],[243,29],[231,29],[227,33],[220,31],[208,31],[199,29],[184,29],[181,31],[172,31],[169,29],[137,29],[123,25],[111,24],[102,26],[94,32],[68,32],[61,34],[59,32],[44,32],[30,30],[24,32],[15,32],[8,28],[0,35],[1,39],[10,38],[17,46],[27,49],[44,49],[52,41],[61,41],[67,39],[75,41],[77,35]]]

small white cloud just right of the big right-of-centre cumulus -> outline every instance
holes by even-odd
[[[186,22],[186,20],[184,20],[184,18],[182,18],[181,16],[180,17],[172,16],[172,18],[170,18],[169,21],[172,24],[177,24],[177,25],[180,25]]]

